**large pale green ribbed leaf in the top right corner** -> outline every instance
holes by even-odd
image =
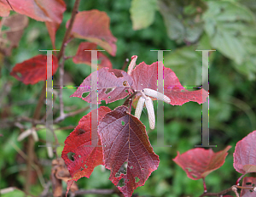
[[[212,47],[241,65],[253,48],[255,18],[251,11],[239,3],[211,1],[203,20]]]

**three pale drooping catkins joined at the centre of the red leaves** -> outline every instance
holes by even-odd
[[[150,97],[157,98],[158,100],[162,100],[162,101],[166,102],[167,104],[171,103],[171,99],[168,98],[163,93],[159,93],[153,89],[150,89],[150,88],[143,89],[143,96],[141,98],[139,98],[139,100],[137,102],[135,116],[137,117],[137,119],[140,119],[142,110],[143,110],[143,106],[145,103],[146,108],[148,110],[149,127],[151,129],[154,129],[154,125],[155,125],[154,105],[153,105],[153,101]]]

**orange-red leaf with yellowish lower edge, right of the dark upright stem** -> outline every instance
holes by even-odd
[[[115,42],[117,39],[113,37],[109,30],[109,23],[108,14],[105,12],[96,9],[82,11],[76,15],[72,35],[73,37],[94,42],[114,56],[116,53]],[[69,20],[67,21],[66,27],[68,25]]]

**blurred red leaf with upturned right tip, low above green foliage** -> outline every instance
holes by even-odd
[[[230,148],[231,146],[227,146],[226,149],[217,153],[212,149],[195,148],[189,149],[182,155],[177,151],[177,156],[173,160],[183,168],[189,178],[198,180],[221,167]]]

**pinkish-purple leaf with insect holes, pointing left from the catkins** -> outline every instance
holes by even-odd
[[[94,73],[96,73],[96,71]],[[83,98],[83,100],[90,103],[90,81],[91,74],[84,79],[79,89],[70,97],[82,98],[83,93],[90,92],[87,97]],[[101,100],[106,100],[106,104],[108,104],[118,99],[125,98],[128,95],[125,90],[127,91],[132,83],[131,76],[123,70],[109,70],[106,67],[98,70],[98,103],[101,104]],[[113,88],[113,91],[108,92],[111,88]],[[91,98],[91,101],[92,104],[96,104],[97,97]]]

